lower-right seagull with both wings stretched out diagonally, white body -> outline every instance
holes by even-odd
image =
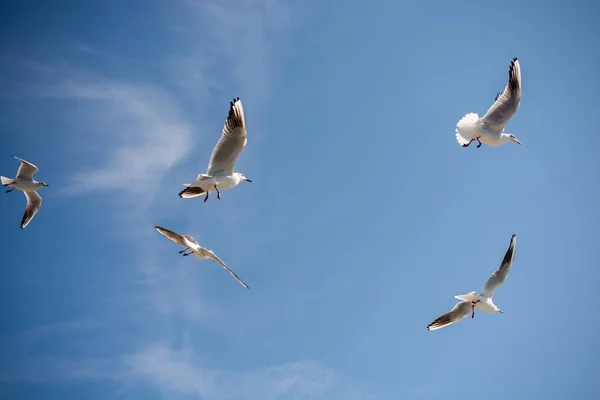
[[[485,311],[488,314],[494,312],[502,313],[503,311],[492,301],[492,296],[494,295],[494,291],[506,280],[510,267],[512,266],[512,260],[515,257],[516,245],[517,235],[512,235],[510,245],[508,246],[508,250],[506,250],[502,264],[500,264],[500,267],[489,277],[481,293],[477,294],[477,292],[471,292],[454,296],[462,301],[457,303],[452,310],[427,325],[427,330],[435,331],[437,329],[442,329],[448,325],[457,323],[469,314],[471,314],[471,318],[474,318],[476,308]]]

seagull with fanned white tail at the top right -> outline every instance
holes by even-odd
[[[507,142],[521,144],[512,133],[504,133],[504,126],[519,109],[521,104],[521,67],[519,60],[513,58],[508,69],[508,83],[504,92],[496,94],[494,104],[481,118],[476,113],[465,115],[456,124],[456,140],[462,147],[468,147],[477,140],[488,146],[500,146]]]

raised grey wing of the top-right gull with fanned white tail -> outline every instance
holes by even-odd
[[[502,132],[504,126],[512,118],[519,109],[521,104],[521,66],[519,60],[513,58],[508,69],[508,83],[504,88],[504,92],[496,95],[494,104],[488,112],[481,117],[481,122],[488,128]]]

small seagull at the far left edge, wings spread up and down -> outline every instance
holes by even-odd
[[[22,190],[27,198],[27,206],[25,207],[25,214],[21,220],[21,229],[25,228],[35,217],[35,214],[40,210],[42,205],[42,198],[37,194],[36,190],[48,186],[45,182],[38,182],[33,179],[33,174],[38,172],[38,168],[32,163],[22,160],[19,157],[12,156],[15,160],[21,162],[19,170],[17,171],[17,177],[14,179],[0,176],[2,180],[2,186],[10,186],[10,189],[6,190],[6,193],[10,193],[15,189]]]

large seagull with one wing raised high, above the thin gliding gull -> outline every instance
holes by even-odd
[[[236,187],[242,181],[252,182],[241,172],[233,172],[235,162],[246,147],[246,118],[244,107],[239,97],[229,102],[229,115],[221,133],[221,139],[213,149],[206,174],[199,174],[192,183],[184,184],[186,188],[179,192],[179,197],[189,199],[205,195],[208,200],[210,192],[217,192],[221,200],[220,190]],[[220,190],[219,190],[220,189]]]

